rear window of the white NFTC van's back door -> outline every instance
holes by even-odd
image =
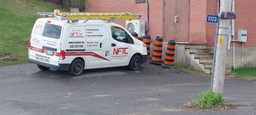
[[[42,36],[59,39],[61,33],[61,26],[54,25],[50,23],[46,23],[44,27],[44,31],[42,32]]]

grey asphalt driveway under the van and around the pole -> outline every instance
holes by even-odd
[[[256,84],[226,79],[224,97],[234,110],[188,111],[190,96],[210,88],[210,78],[144,64],[86,70],[70,77],[34,64],[0,67],[0,114],[256,114]]]

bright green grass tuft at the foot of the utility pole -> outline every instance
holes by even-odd
[[[192,104],[199,104],[200,108],[211,108],[214,106],[222,106],[225,101],[220,93],[212,93],[211,90],[204,91],[199,94],[198,98],[191,98]]]

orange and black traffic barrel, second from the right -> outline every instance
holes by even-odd
[[[152,60],[149,61],[152,64],[162,64],[162,51],[163,51],[163,37],[156,37],[153,57]]]

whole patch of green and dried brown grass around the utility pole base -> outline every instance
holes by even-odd
[[[211,90],[204,91],[198,98],[191,98],[191,102],[182,105],[183,109],[222,109],[229,110],[237,105],[225,104],[225,100],[220,93],[212,93]]]

